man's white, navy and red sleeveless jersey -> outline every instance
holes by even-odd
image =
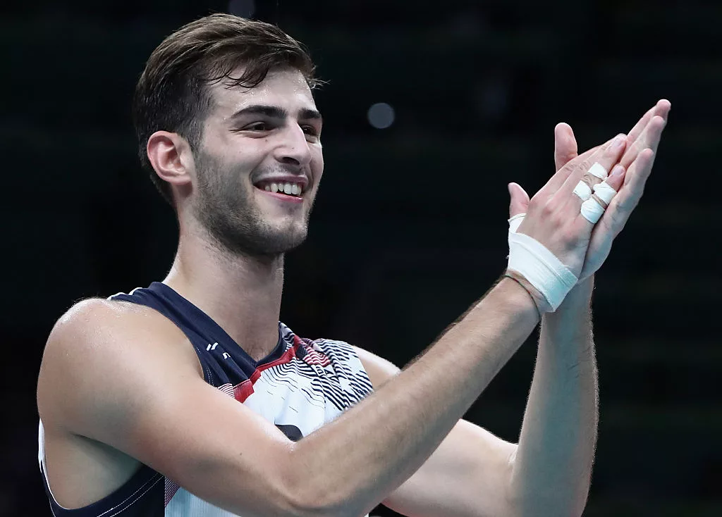
[[[168,317],[196,350],[208,384],[276,425],[293,441],[334,420],[372,392],[358,355],[342,341],[302,339],[279,322],[276,348],[261,361],[254,361],[207,314],[163,283],[109,299],[149,306]],[[63,508],[53,498],[45,477],[42,422],[38,443],[40,471],[55,517],[234,516],[146,465],[96,503]]]

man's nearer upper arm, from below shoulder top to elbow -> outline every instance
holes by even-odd
[[[165,345],[157,332],[132,323],[53,331],[38,384],[41,417],[233,513],[298,513],[294,444],[206,384],[179,343]]]

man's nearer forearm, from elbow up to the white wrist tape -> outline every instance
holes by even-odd
[[[318,508],[362,515],[410,477],[438,447],[497,371],[529,336],[538,315],[529,294],[505,278],[424,355],[294,451],[325,490]]]

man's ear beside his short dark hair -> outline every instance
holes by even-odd
[[[156,131],[146,145],[150,164],[161,180],[171,185],[188,185],[194,167],[191,146],[178,133]]]

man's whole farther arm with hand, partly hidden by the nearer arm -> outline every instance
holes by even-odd
[[[622,203],[610,207],[606,220],[594,230],[585,268],[593,271],[604,262],[612,239],[638,201],[652,166],[644,149],[656,149],[668,112],[669,102],[660,101],[630,131],[632,145],[622,157],[622,164],[629,167],[619,197]],[[558,170],[570,160],[574,164],[588,159],[599,149],[576,156],[573,134],[568,128],[565,135],[564,129],[557,127]],[[565,145],[565,136],[573,149]],[[511,215],[528,208],[514,204],[513,200]],[[460,420],[384,504],[414,517],[580,515],[589,489],[598,420],[592,287],[592,278],[583,281],[555,313],[544,315],[519,445]],[[364,350],[360,357],[374,384],[396,374],[388,361]]]

